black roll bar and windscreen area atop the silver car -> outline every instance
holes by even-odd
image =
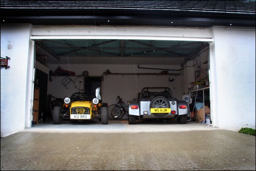
[[[153,98],[156,96],[173,98],[172,91],[168,87],[145,87],[140,92],[140,98]]]

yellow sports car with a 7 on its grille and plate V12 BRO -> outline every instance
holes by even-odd
[[[53,124],[60,124],[62,119],[71,121],[99,119],[102,124],[108,124],[108,104],[101,103],[94,93],[76,92],[70,98],[64,99],[63,105],[53,108]]]

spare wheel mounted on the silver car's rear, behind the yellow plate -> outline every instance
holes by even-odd
[[[150,102],[150,108],[170,108],[170,102],[164,96],[158,96],[158,97],[155,97]],[[154,114],[155,116],[161,117],[161,116],[165,116],[168,113],[152,113],[152,114]]]

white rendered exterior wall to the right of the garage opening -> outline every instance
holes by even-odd
[[[214,126],[255,129],[255,31],[213,27],[210,44],[211,114]]]

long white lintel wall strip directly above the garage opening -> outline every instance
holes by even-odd
[[[177,28],[177,27],[154,27],[154,26],[33,26],[33,36],[122,36],[129,39],[130,36],[138,36],[137,39],[161,37],[177,38],[212,38],[210,28]]]

